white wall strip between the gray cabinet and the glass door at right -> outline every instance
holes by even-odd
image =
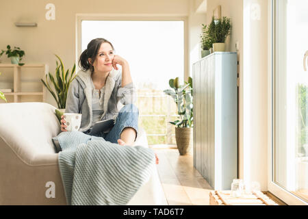
[[[244,0],[240,176],[268,190],[268,0]]]

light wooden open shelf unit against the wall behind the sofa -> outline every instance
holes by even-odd
[[[46,64],[24,64],[23,66],[18,66],[18,64],[9,64],[9,63],[0,64],[0,71],[2,73],[5,73],[5,70],[1,68],[12,68],[13,69],[13,76],[12,76],[13,77],[13,88],[12,90],[14,90],[14,92],[4,92],[3,93],[5,96],[14,96],[14,100],[11,102],[14,102],[14,103],[24,102],[24,101],[27,101],[27,99],[30,99],[31,101],[35,101],[35,99],[38,99],[38,97],[35,97],[35,96],[42,96],[42,98],[39,101],[42,101],[42,102],[45,101],[46,89],[44,88],[44,85],[41,84],[41,87],[38,86],[38,88],[36,88],[34,91],[31,91],[31,92],[23,91],[22,90],[23,86],[21,86],[21,83],[28,83],[29,81],[27,82],[21,81],[21,77],[23,75],[28,75],[28,74],[31,75],[31,70],[30,72],[29,70],[27,70],[25,71],[25,73],[23,73],[23,69],[36,68],[35,74],[40,73],[40,72],[42,74],[39,78],[37,78],[38,76],[34,76],[34,81],[30,81],[30,82],[36,82],[36,81],[40,81],[40,79],[44,79],[45,75],[48,73],[48,66]],[[38,72],[38,70],[40,72]],[[12,84],[12,81],[8,81],[8,83]],[[42,82],[40,81],[40,83]],[[8,87],[8,85],[5,85],[5,87]]]

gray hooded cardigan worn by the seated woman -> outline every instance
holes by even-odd
[[[122,88],[121,82],[121,70],[113,68],[105,83],[101,120],[115,119],[118,116],[118,101],[123,105],[136,102],[136,88],[133,83],[129,83]],[[87,131],[92,125],[92,87],[91,71],[79,70],[68,88],[65,112],[82,114],[79,131]]]

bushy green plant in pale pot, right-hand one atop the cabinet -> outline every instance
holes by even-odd
[[[223,18],[211,18],[211,23],[207,29],[207,34],[213,42],[214,52],[224,51],[224,42],[231,33],[231,20],[224,16]]]

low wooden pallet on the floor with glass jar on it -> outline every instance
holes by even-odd
[[[231,191],[217,191],[209,193],[209,205],[278,205],[263,192],[244,194],[239,198],[233,198]]]

